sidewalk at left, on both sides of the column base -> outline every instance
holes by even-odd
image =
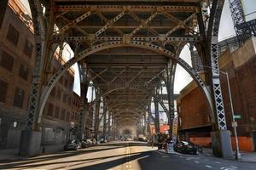
[[[58,152],[63,150],[63,144],[51,144],[51,145],[44,145],[44,154],[50,154],[54,152]],[[43,146],[41,146],[41,154],[43,151]],[[19,148],[15,149],[6,149],[0,150],[0,161],[3,160],[17,160],[17,159],[26,159],[27,156],[18,156]]]

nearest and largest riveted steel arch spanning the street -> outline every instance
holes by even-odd
[[[189,65],[187,64],[183,59],[181,58],[176,58],[172,52],[166,50],[165,48],[161,48],[159,46],[156,46],[154,44],[150,44],[147,42],[137,42],[137,41],[131,41],[131,42],[105,42],[99,45],[96,45],[94,47],[88,48],[82,52],[80,52],[77,56],[74,56],[72,59],[69,59],[65,65],[62,65],[61,69],[55,73],[53,77],[49,79],[48,85],[46,88],[44,88],[43,93],[41,95],[41,105],[40,105],[40,110],[39,110],[39,118],[38,118],[38,123],[41,122],[41,116],[44,111],[44,105],[46,103],[46,100],[49,96],[49,93],[51,89],[55,86],[55,83],[60,79],[62,74],[64,74],[65,71],[67,71],[68,68],[70,68],[73,64],[78,62],[81,59],[84,59],[90,54],[94,54],[96,52],[102,51],[103,49],[108,49],[108,48],[117,48],[117,47],[135,47],[135,48],[147,48],[149,50],[152,50],[158,54],[164,54],[167,57],[170,57],[171,59],[174,59],[179,65],[185,69],[189,73],[191,77],[194,78],[195,82],[201,87],[203,90],[203,93],[205,94],[208,104],[212,110],[212,99],[211,99],[211,94],[208,91],[205,83],[201,80],[201,77],[196,73],[196,71]]]

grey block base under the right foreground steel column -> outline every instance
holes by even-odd
[[[218,130],[211,133],[213,156],[233,158],[230,131]]]

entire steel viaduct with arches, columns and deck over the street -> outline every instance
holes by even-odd
[[[79,64],[81,98],[80,138],[88,108],[103,100],[116,125],[137,123],[149,115],[151,99],[166,111],[170,127],[174,116],[173,83],[176,66],[193,77],[205,95],[212,118],[212,150],[232,156],[218,72],[218,26],[224,0],[28,0],[35,37],[35,69],[22,132],[20,153],[35,155],[40,146],[40,122],[51,89],[73,64]],[[4,13],[8,0],[1,1]],[[0,25],[2,24],[0,18]],[[74,57],[55,72],[51,58],[67,43]],[[202,65],[198,73],[179,54],[189,44]],[[61,52],[60,52],[61,53]],[[193,56],[191,56],[193,58]],[[202,78],[202,75],[204,78]],[[96,99],[87,102],[93,82]],[[164,85],[169,111],[160,99]],[[200,102],[200,101],[198,101]],[[156,116],[157,117],[157,116]],[[156,131],[159,122],[155,121]]]

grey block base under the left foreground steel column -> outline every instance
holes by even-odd
[[[37,156],[40,154],[42,133],[33,130],[23,130],[20,137],[20,156]]]

